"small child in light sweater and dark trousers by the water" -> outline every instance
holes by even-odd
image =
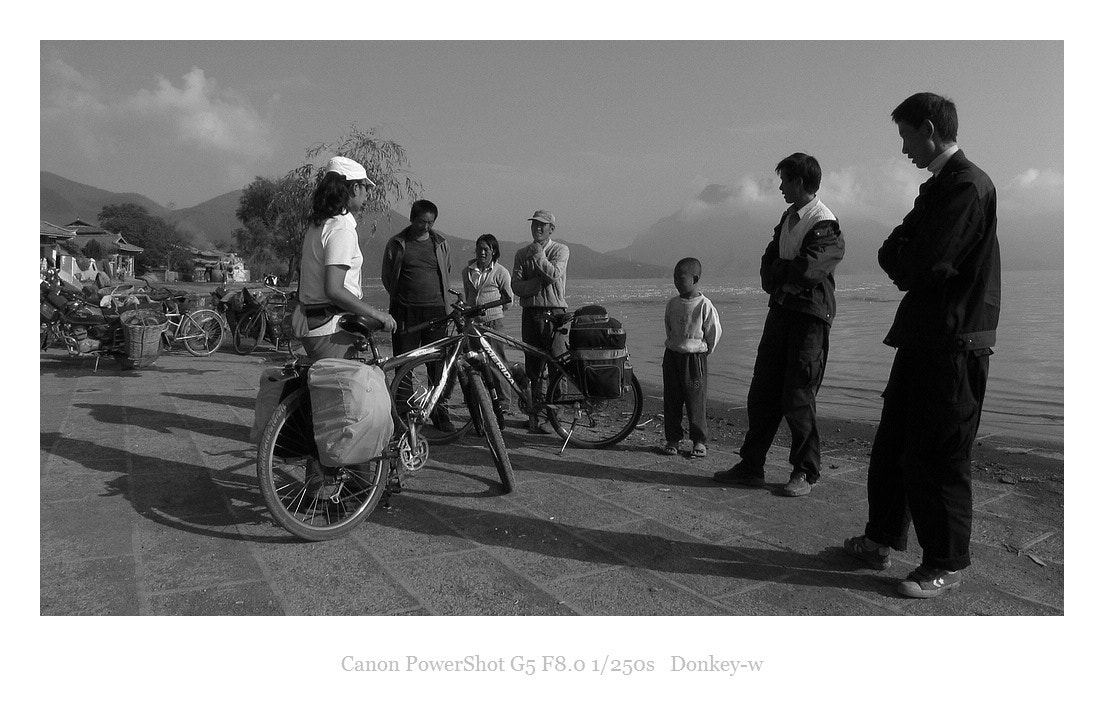
[[[682,440],[682,406],[690,421],[693,441],[691,458],[705,457],[709,439],[705,424],[705,394],[709,371],[705,357],[721,338],[721,321],[712,301],[698,290],[701,261],[683,258],[675,265],[675,289],[667,302],[664,327],[664,432],[666,455],[678,455]]]

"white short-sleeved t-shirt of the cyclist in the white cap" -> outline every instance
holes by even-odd
[[[302,239],[302,256],[299,263],[299,301],[307,304],[325,304],[326,267],[348,266],[344,287],[357,298],[363,296],[360,287],[360,269],[364,257],[357,241],[357,220],[346,212],[326,220],[321,226],[311,226]],[[338,332],[338,317],[305,335],[330,335]]]

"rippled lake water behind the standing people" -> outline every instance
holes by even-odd
[[[386,306],[379,282],[365,298]],[[1005,271],[1000,325],[990,359],[989,385],[980,435],[1007,435],[1047,447],[1061,447],[1063,399],[1062,271]],[[644,383],[661,384],[664,307],[675,292],[660,279],[572,280],[573,308],[598,303],[628,331],[633,368]],[[710,397],[745,405],[755,349],[767,297],[758,279],[709,279],[704,292],[716,306],[724,331],[710,356]],[[874,423],[889,377],[893,349],[882,343],[902,293],[884,275],[838,276],[836,322],[824,385],[817,397],[821,415]],[[507,311],[507,332],[521,333],[521,311]]]

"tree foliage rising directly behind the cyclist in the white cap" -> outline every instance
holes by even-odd
[[[392,202],[414,200],[422,193],[421,183],[408,174],[406,150],[383,139],[378,129],[364,131],[353,125],[336,142],[309,147],[302,165],[276,179],[257,177],[243,190],[235,212],[242,227],[234,231],[234,237],[251,264],[282,261],[287,266],[288,280],[295,279],[315,185],[321,179],[325,161],[338,154],[363,164],[369,179],[375,182],[369,191],[368,213],[386,214]],[[316,160],[321,160],[322,165],[316,167]],[[369,229],[374,233],[374,223]]]

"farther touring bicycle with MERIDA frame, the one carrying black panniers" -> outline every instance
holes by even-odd
[[[488,434],[491,426],[498,429],[502,420],[501,396],[498,394],[499,381],[513,389],[519,406],[530,403],[530,391],[524,381],[519,381],[499,357],[492,348],[492,344],[497,343],[502,348],[539,356],[546,367],[548,388],[544,399],[537,405],[529,405],[526,412],[530,417],[542,414],[548,417],[549,424],[564,439],[561,452],[569,442],[603,448],[620,442],[633,432],[644,409],[644,393],[640,383],[631,374],[630,366],[611,364],[609,367],[617,371],[616,383],[619,385],[615,385],[614,391],[598,391],[588,380],[591,375],[588,367],[576,360],[571,351],[553,356],[542,349],[474,320],[482,310],[505,304],[505,300],[469,308],[463,299],[459,299],[459,293],[452,292],[458,300],[453,303],[453,310],[447,317],[407,329],[417,331],[429,325],[450,323],[456,332],[403,354],[402,357],[406,362],[399,366],[391,383],[396,419],[403,419],[402,406],[408,406],[417,421],[425,426],[426,440],[431,444],[450,442],[474,427],[482,428]],[[574,318],[574,313],[564,313],[556,319],[559,322],[553,327],[554,330],[566,332],[567,324]],[[496,419],[484,420],[481,426],[475,420],[454,423],[452,430],[442,430],[440,426],[432,425],[432,416],[438,403],[450,395],[458,368],[473,371],[481,377],[473,384],[477,388],[486,387],[492,395],[492,413]],[[539,394],[539,391],[532,392],[532,395]],[[467,396],[465,397],[467,399]],[[476,414],[473,412],[471,415]]]

